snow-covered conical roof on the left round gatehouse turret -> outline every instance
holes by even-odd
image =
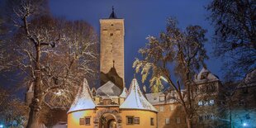
[[[89,92],[88,81],[83,79],[83,86],[79,88],[77,96],[75,97],[68,113],[73,111],[80,111],[86,109],[94,109],[95,103],[92,101],[91,93]]]

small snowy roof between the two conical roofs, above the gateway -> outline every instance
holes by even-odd
[[[97,88],[96,94],[99,96],[119,96],[121,94],[121,89],[111,81],[108,81],[102,85],[102,87]]]

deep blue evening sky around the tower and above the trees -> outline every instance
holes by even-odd
[[[147,36],[158,36],[165,30],[166,19],[176,17],[179,26],[199,25],[208,32],[206,49],[211,57],[211,36],[213,26],[206,20],[206,5],[210,0],[51,0],[50,11],[56,17],[69,20],[84,20],[99,33],[99,19],[109,17],[111,7],[115,7],[117,17],[125,19],[125,72],[126,86],[133,78],[132,63],[139,57],[138,50],[145,46]],[[217,76],[220,72],[220,59],[211,57],[206,61],[207,68]]]

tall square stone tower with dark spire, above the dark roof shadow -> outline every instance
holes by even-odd
[[[111,68],[125,81],[124,58],[124,19],[117,18],[112,7],[109,18],[100,19],[101,24],[101,72],[108,73]]]

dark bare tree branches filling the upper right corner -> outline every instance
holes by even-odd
[[[213,0],[206,9],[211,12],[209,19],[216,31],[214,54],[225,58],[228,78],[244,78],[255,69],[256,2]]]

